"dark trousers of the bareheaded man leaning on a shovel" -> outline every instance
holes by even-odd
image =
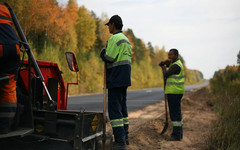
[[[167,94],[170,117],[173,123],[173,131],[171,136],[177,139],[182,139],[183,137],[182,113],[181,113],[182,97],[183,94]]]

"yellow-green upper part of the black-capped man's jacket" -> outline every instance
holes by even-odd
[[[117,33],[108,40],[105,58],[113,63],[108,63],[107,68],[131,64],[132,46],[123,33]]]

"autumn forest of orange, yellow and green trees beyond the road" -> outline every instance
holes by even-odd
[[[65,52],[74,52],[79,66],[79,86],[71,86],[71,95],[101,92],[103,88],[103,62],[100,51],[110,38],[107,26],[108,14],[99,17],[76,0],[60,5],[56,0],[7,0],[26,35],[37,60],[57,63],[65,82],[74,82],[76,74],[68,69]],[[162,71],[159,62],[167,59],[163,46],[153,46],[136,37],[133,29],[123,33],[133,46],[132,86],[130,89],[162,87]],[[186,84],[204,81],[198,70],[185,66]],[[25,57],[26,58],[26,57]]]

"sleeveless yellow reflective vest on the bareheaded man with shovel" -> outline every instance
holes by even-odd
[[[179,74],[173,74],[169,76],[166,80],[166,87],[165,87],[165,94],[184,94],[184,68],[183,64],[178,59],[174,63],[171,63],[169,68],[172,65],[178,65],[181,68],[181,71]]]

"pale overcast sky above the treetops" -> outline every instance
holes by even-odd
[[[68,0],[58,0],[66,4]],[[240,0],[77,0],[98,17],[122,17],[124,29],[153,46],[177,48],[206,79],[237,64]]]

